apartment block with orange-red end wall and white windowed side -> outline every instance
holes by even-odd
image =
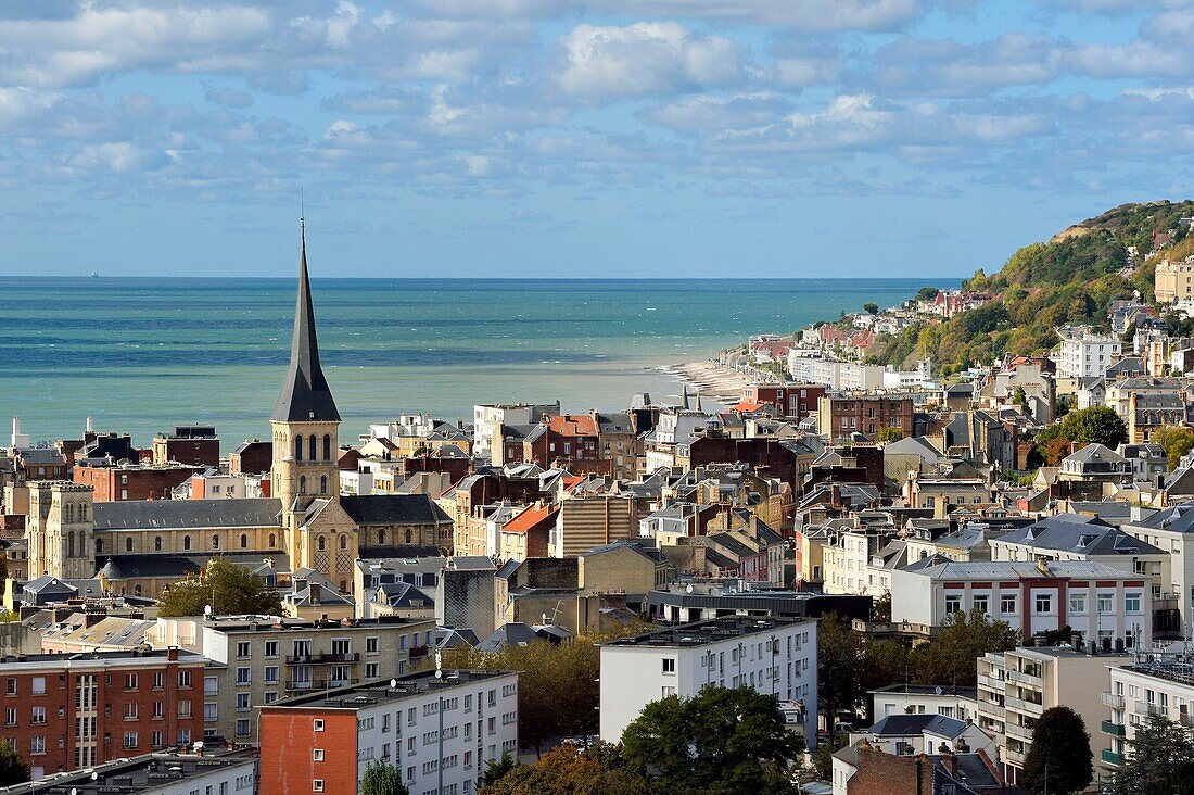
[[[370,763],[414,795],[469,795],[518,750],[518,674],[444,671],[288,698],[261,709],[261,795],[359,791]]]

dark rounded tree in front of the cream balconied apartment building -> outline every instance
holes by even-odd
[[[1094,775],[1082,716],[1064,705],[1045,710],[1033,729],[1021,783],[1033,791],[1067,795],[1084,790]]]

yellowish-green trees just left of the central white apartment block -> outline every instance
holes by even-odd
[[[627,626],[618,635],[645,631],[646,625]],[[518,741],[540,752],[546,740],[597,733],[601,702],[601,653],[597,643],[615,635],[579,636],[571,643],[546,641],[506,647],[500,652],[451,649],[444,667],[521,671],[518,681]]]

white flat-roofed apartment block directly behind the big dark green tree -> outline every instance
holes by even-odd
[[[603,643],[601,738],[617,742],[651,702],[750,686],[793,702],[817,745],[817,622],[727,616]]]

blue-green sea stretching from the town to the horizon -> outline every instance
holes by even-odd
[[[312,294],[349,440],[400,414],[468,420],[476,403],[673,400],[669,365],[890,306],[925,283],[313,279]],[[87,417],[137,446],[187,423],[214,424],[226,451],[267,439],[295,289],[294,279],[0,279],[0,446],[14,416],[35,441],[78,438]]]

